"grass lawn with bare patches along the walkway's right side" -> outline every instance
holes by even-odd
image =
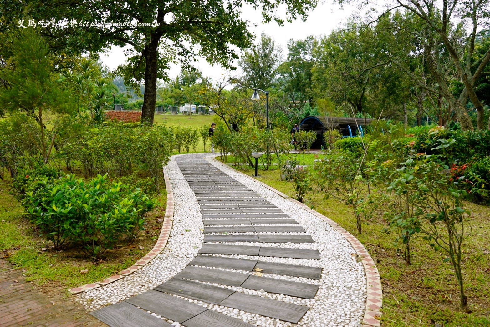
[[[308,156],[308,155],[305,155]],[[313,155],[310,155],[313,157]],[[251,167],[242,167],[252,174]],[[257,179],[294,197],[291,184],[279,178],[277,166],[259,170]],[[412,265],[407,266],[393,244],[395,235],[383,232],[382,211],[363,224],[357,234],[352,209],[335,199],[325,200],[321,192],[306,195],[305,204],[337,222],[366,247],[378,267],[383,286],[382,326],[490,326],[490,210],[465,203],[472,212],[472,235],[464,246],[463,273],[471,313],[459,306],[454,271],[444,255],[417,238],[412,244]]]

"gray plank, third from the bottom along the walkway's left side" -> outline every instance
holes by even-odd
[[[203,284],[198,281],[180,280],[176,278],[172,278],[156,286],[154,290],[213,304],[220,303],[233,293],[233,291],[225,288]]]

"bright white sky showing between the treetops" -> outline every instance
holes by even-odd
[[[321,0],[319,2],[322,2]],[[285,7],[282,7],[283,16],[286,18]],[[260,34],[265,32],[272,37],[276,45],[281,45],[283,48],[283,56],[286,58],[288,54],[287,43],[290,39],[302,40],[308,35],[314,35],[316,37],[329,34],[333,29],[341,27],[347,18],[356,13],[354,6],[343,6],[343,9],[338,4],[332,4],[330,1],[319,3],[317,8],[312,12],[309,12],[306,22],[301,20],[293,21],[292,23],[284,23],[284,26],[279,26],[277,23],[272,22],[268,24],[262,24],[262,16],[260,11],[255,11],[253,8],[243,7],[242,17],[255,23],[257,26],[249,25],[249,30],[255,34],[255,44],[260,40]],[[111,51],[106,52],[100,56],[102,62],[109,67],[110,70],[114,70],[125,62],[123,51],[119,47],[113,47]],[[235,66],[236,63],[235,63]],[[204,76],[211,77],[213,80],[218,80],[221,74],[226,73],[226,70],[221,66],[211,66],[204,59],[198,60],[195,65],[196,68],[202,71]],[[180,67],[173,66],[169,71],[169,76],[173,79],[180,73]],[[232,72],[233,75],[238,74],[236,70]]]

